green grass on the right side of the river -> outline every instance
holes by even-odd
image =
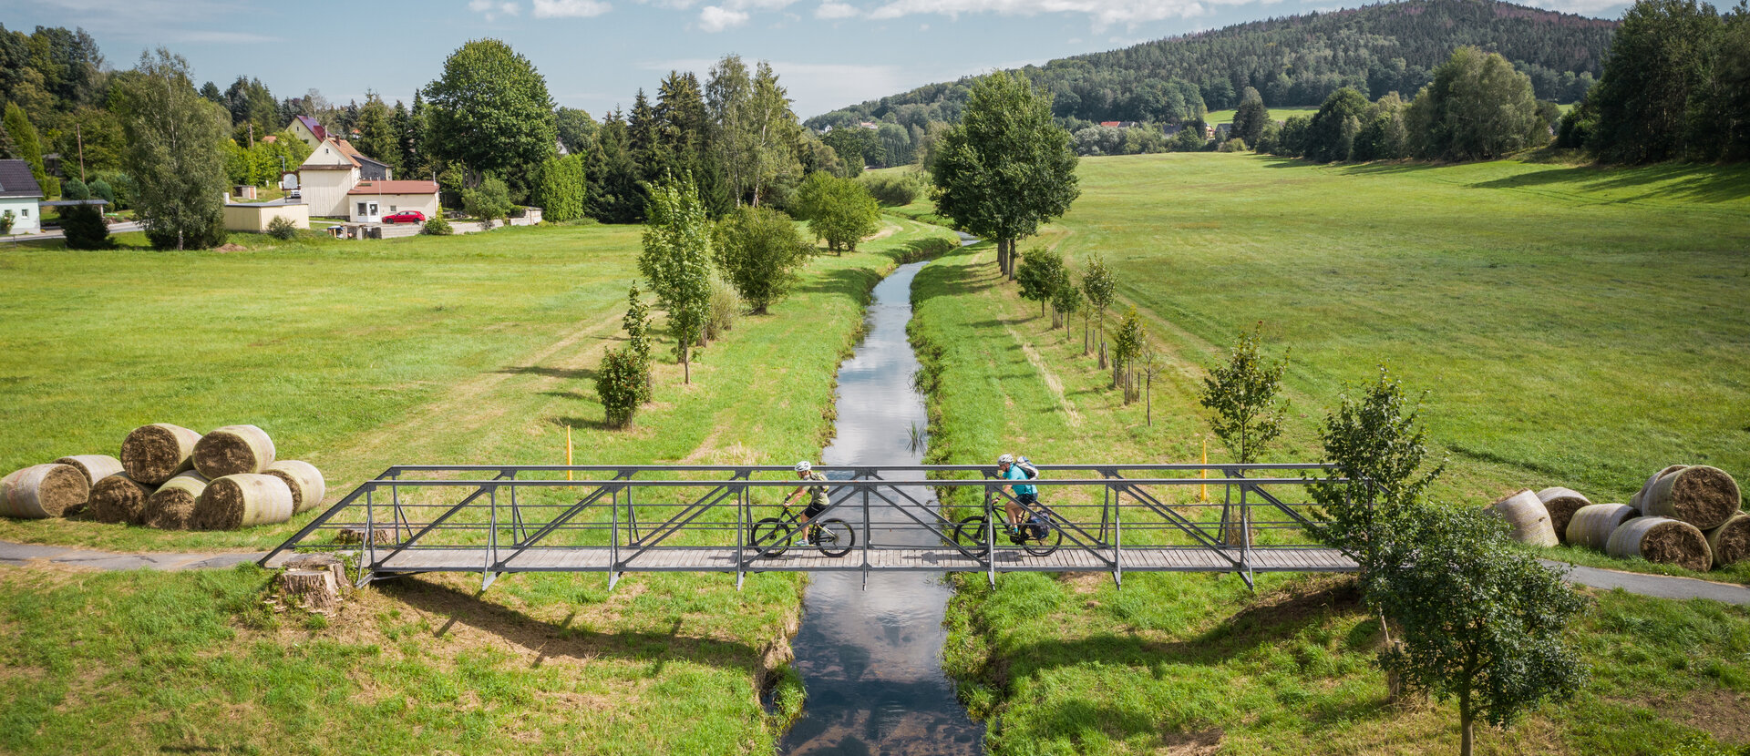
[[[1750,429],[1722,413],[1750,406],[1743,170],[1199,154],[1087,159],[1082,180],[1034,243],[1118,270],[1171,360],[1155,425],[1080,355],[1080,324],[1046,332],[980,245],[928,266],[914,292],[914,336],[940,371],[936,460],[1195,460],[1204,366],[1264,320],[1270,352],[1292,354],[1274,460],[1318,457],[1318,420],[1384,360],[1433,392],[1430,432],[1452,452],[1437,497],[1452,504],[1545,485],[1622,500],[1668,460],[1750,478]],[[1377,623],[1342,578],[1270,576],[1251,597],[1234,578],[1127,574],[1120,592],[1012,574],[989,592],[971,576],[950,625],[948,668],[994,721],[996,752],[1456,749],[1452,705],[1386,705]],[[1482,752],[1750,740],[1750,611],[1603,593],[1573,640],[1594,668],[1578,700],[1484,733]]]

